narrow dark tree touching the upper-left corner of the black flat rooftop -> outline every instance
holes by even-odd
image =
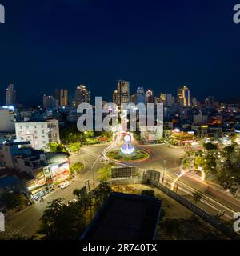
[[[113,190],[106,182],[100,182],[99,186],[92,190],[91,198],[93,200],[94,210],[99,210],[106,198],[110,196]]]

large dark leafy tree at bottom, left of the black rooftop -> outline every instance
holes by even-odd
[[[86,228],[88,202],[82,198],[65,205],[62,199],[49,202],[40,218],[38,234],[43,240],[78,240]]]

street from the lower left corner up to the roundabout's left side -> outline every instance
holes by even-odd
[[[38,230],[39,218],[41,218],[44,210],[46,209],[47,202],[51,202],[54,199],[62,198],[64,202],[69,202],[74,198],[73,190],[75,188],[80,188],[85,185],[87,179],[90,179],[90,186],[93,186],[93,173],[97,178],[97,170],[102,167],[104,164],[101,162],[101,159],[96,159],[98,155],[106,148],[105,146],[85,146],[82,148],[80,154],[76,154],[70,157],[70,163],[74,164],[76,162],[84,163],[84,172],[83,174],[78,174],[77,177],[70,182],[70,186],[67,186],[66,189],[60,190],[56,189],[54,192],[46,195],[44,202],[36,202],[33,206],[27,207],[25,210],[22,210],[18,213],[15,213],[13,216],[6,217],[6,231],[0,234],[2,236],[11,236],[11,235],[34,235]],[[94,168],[91,169],[95,162]],[[91,169],[91,170],[90,170]]]

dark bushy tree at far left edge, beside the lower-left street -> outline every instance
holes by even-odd
[[[3,200],[7,209],[14,209],[18,206],[26,206],[27,198],[23,194],[5,193]]]

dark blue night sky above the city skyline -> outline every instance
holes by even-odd
[[[155,94],[178,86],[204,100],[240,102],[240,24],[231,0],[0,0],[0,104],[41,104],[86,83],[112,98],[119,78]]]

